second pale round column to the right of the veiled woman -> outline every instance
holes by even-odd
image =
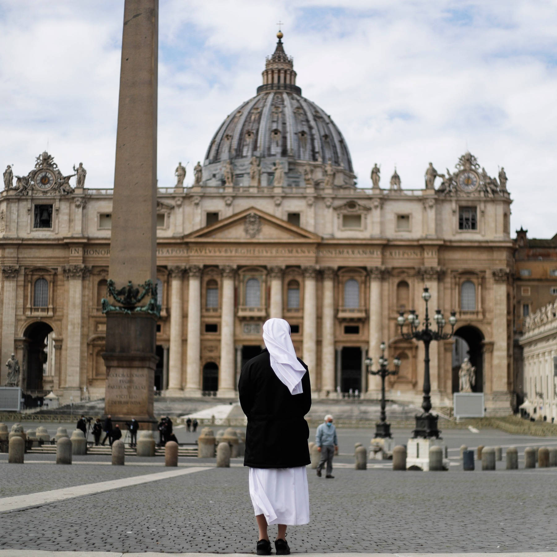
[[[323,269],[323,301],[321,307],[321,396],[335,390],[335,296],[333,267]]]

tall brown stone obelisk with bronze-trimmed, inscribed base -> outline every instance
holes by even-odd
[[[158,0],[125,0],[106,315],[105,413],[154,428]]]

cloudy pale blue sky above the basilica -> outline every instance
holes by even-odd
[[[554,0],[160,0],[158,179],[203,162],[224,118],[261,84],[281,21],[302,95],[330,114],[360,187],[396,165],[423,187],[470,150],[505,167],[511,231],[557,232]],[[114,180],[123,0],[0,0],[0,167],[47,149],[86,187]]]

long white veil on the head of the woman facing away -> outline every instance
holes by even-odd
[[[263,324],[263,341],[270,354],[271,368],[291,394],[302,393],[302,377],[306,368],[296,358],[290,338],[290,325],[284,319],[272,317]]]

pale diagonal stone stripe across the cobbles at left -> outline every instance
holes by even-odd
[[[134,476],[131,478],[120,478],[119,480],[109,480],[106,482],[86,483],[85,485],[63,487],[51,491],[40,491],[27,495],[15,495],[13,497],[2,497],[0,499],[0,512],[15,511],[18,509],[27,509],[28,507],[40,507],[53,503],[55,501],[63,501],[65,499],[74,499],[74,497],[82,497],[84,495],[92,495],[101,493],[102,491],[110,491],[120,489],[121,487],[130,487],[140,485],[141,483],[155,482],[158,480],[167,480],[184,474],[192,474],[194,472],[202,472],[211,470],[209,467],[194,467],[185,470],[168,470],[165,472],[157,472],[154,474],[146,474],[143,476]]]

